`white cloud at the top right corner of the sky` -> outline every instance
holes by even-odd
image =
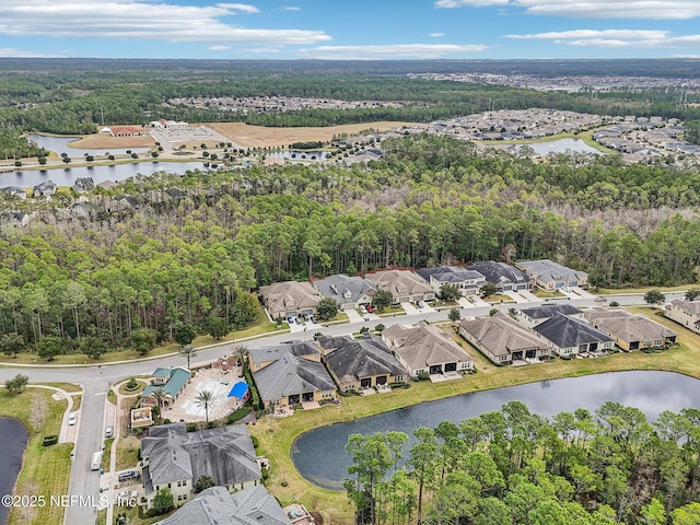
[[[436,8],[510,5],[529,14],[574,19],[687,20],[700,16],[698,0],[436,0]]]

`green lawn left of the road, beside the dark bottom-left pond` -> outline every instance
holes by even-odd
[[[63,443],[49,447],[43,446],[45,435],[58,434],[68,401],[51,399],[51,390],[40,388],[27,388],[15,396],[0,389],[0,413],[21,419],[30,429],[30,443],[24,453],[24,464],[16,483],[16,494],[43,494],[47,500],[50,495],[68,493],[68,479],[70,476],[70,453],[73,445]],[[32,409],[32,400],[36,396],[46,399],[48,412],[40,432],[35,432],[28,424],[27,418]],[[40,509],[21,510],[13,509],[10,512],[9,525],[62,523],[63,510],[58,506],[45,505]]]

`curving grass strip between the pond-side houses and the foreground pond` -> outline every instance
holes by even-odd
[[[661,318],[650,308],[631,308],[642,312],[680,334],[680,345],[662,353],[619,352],[607,358],[564,361],[556,359],[529,366],[498,368],[474,350],[457,336],[456,341],[475,358],[477,373],[467,375],[463,381],[431,384],[412,383],[408,389],[394,390],[381,396],[343,397],[341,407],[327,406],[318,410],[301,410],[291,418],[264,418],[250,433],[259,440],[258,454],[270,459],[268,489],[282,502],[303,502],[332,524],[350,525],[352,510],[343,492],[335,492],[316,487],[303,479],[296,471],[290,451],[294,440],[314,428],[359,419],[366,416],[395,410],[397,408],[471,392],[520,385],[537,381],[574,377],[580,375],[627,370],[665,370],[700,378],[700,336],[680,327],[672,320]],[[453,328],[443,327],[454,334]],[[282,487],[282,481],[288,483]]]

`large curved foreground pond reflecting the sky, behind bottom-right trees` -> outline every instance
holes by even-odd
[[[404,395],[410,396],[410,388]],[[351,463],[345,451],[350,434],[389,430],[410,434],[419,427],[434,429],[441,421],[460,422],[499,410],[512,400],[523,401],[532,412],[547,417],[576,408],[593,412],[605,401],[617,401],[639,408],[653,420],[663,410],[700,408],[700,381],[672,372],[614,372],[464,394],[312,430],[292,445],[292,460],[311,482],[342,490]]]

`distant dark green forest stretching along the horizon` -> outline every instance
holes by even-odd
[[[524,61],[527,62],[527,61]],[[510,63],[510,62],[509,62]],[[551,63],[419,62],[425,71],[525,70],[551,74]],[[62,69],[59,67],[62,65]],[[597,74],[691,74],[682,61],[638,63],[602,61]],[[508,69],[510,67],[510,69]],[[698,93],[681,86],[609,93],[540,92],[499,85],[409,79],[396,62],[252,62],[0,60],[0,158],[32,156],[22,133],[93,133],[98,126],[144,124],[158,118],[190,122],[243,121],[259,126],[334,126],[378,120],[428,122],[483,112],[550,107],[600,115],[699,119]],[[559,74],[582,74],[591,65],[559,65]],[[609,69],[606,69],[609,68]],[[650,73],[650,70],[652,72]],[[313,73],[310,74],[310,71]],[[641,74],[641,73],[639,73]],[[678,101],[684,94],[687,103]],[[172,106],[173,97],[304,96],[346,101],[395,101],[402,107],[232,112]]]

